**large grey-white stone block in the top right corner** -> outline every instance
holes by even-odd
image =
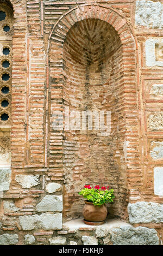
[[[136,1],[135,23],[148,28],[163,27],[163,4],[153,1]]]

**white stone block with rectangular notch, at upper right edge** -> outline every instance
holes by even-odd
[[[146,65],[163,67],[163,39],[146,40]]]

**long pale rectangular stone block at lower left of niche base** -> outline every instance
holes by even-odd
[[[62,214],[42,213],[41,215],[20,216],[19,221],[23,230],[45,229],[58,230],[62,228]]]

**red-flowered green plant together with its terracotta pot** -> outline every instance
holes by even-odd
[[[103,224],[107,216],[105,203],[113,202],[114,190],[109,190],[109,187],[99,187],[99,185],[95,188],[86,185],[80,190],[79,195],[87,199],[83,207],[84,223],[87,225]]]

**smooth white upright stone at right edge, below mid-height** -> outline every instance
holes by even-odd
[[[154,194],[163,196],[163,166],[154,168]]]

